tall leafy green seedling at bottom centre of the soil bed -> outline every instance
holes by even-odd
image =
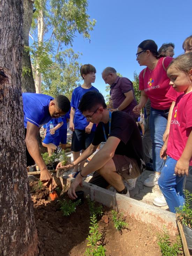
[[[102,244],[98,245],[99,240],[102,238],[102,234],[99,233],[96,214],[93,214],[93,216],[90,217],[90,220],[91,226],[89,227],[90,230],[87,237],[87,246],[90,246],[90,248],[86,249],[85,255],[105,256],[106,249]]]

